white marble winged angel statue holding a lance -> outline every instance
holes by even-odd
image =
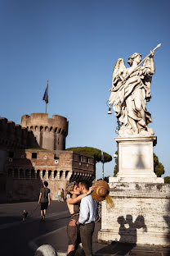
[[[113,105],[115,116],[121,123],[120,137],[154,135],[154,131],[148,127],[152,119],[145,106],[151,98],[150,85],[154,75],[156,48],[142,61],[143,66],[140,53],[133,53],[128,58],[130,67],[126,68],[122,58],[114,66],[109,104]]]

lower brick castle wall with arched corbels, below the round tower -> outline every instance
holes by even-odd
[[[69,181],[93,181],[95,164],[92,157],[66,150],[17,150],[6,163],[8,199],[37,200],[47,181],[51,199],[57,200],[58,189],[65,190]]]

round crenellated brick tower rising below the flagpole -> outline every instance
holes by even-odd
[[[32,130],[35,136],[35,144],[40,148],[49,150],[65,150],[65,138],[68,135],[69,121],[58,115],[48,118],[47,113],[32,113],[29,117],[21,118],[21,126]],[[30,142],[30,147],[33,146]]]

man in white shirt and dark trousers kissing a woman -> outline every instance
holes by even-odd
[[[79,182],[81,194],[87,194],[89,190],[88,181]],[[80,227],[80,236],[86,256],[92,256],[92,235],[95,229],[96,221],[96,202],[92,195],[88,194],[81,200],[78,221],[75,223]]]

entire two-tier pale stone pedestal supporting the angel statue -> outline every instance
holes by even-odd
[[[109,183],[114,208],[102,202],[98,240],[170,246],[170,185],[154,174],[156,137],[115,140],[119,172]]]

